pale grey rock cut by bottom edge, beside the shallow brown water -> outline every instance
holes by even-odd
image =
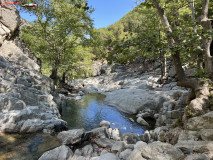
[[[65,145],[57,147],[53,150],[45,152],[39,160],[67,160],[73,153],[71,149]]]

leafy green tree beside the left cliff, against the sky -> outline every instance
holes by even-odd
[[[37,20],[32,27],[23,30],[22,38],[51,69],[50,77],[57,84],[59,76],[66,77],[71,69],[76,69],[74,62],[91,61],[93,57],[86,48],[87,52],[82,52],[83,57],[76,52],[76,48],[87,44],[93,30],[90,18],[92,9],[85,0],[47,0],[37,3],[37,9],[28,9],[36,15]]]

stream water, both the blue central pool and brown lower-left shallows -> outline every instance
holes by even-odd
[[[129,120],[135,116],[104,104],[104,99],[104,95],[89,94],[80,101],[64,101],[62,119],[67,122],[69,129],[84,128],[89,131],[106,120],[111,122],[111,128],[119,128],[122,133],[143,134],[145,128]],[[58,146],[60,144],[56,136],[50,134],[0,133],[0,160],[37,160],[45,151]]]

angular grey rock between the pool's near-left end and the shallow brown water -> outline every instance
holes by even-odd
[[[84,129],[73,129],[69,131],[60,132],[57,135],[57,139],[61,144],[74,145],[81,141],[82,135],[84,134]]]

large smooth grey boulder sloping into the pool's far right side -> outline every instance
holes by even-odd
[[[136,114],[145,108],[159,110],[169,98],[161,92],[156,91],[155,94],[153,91],[142,89],[121,89],[106,93],[106,95],[105,103],[130,114]]]

